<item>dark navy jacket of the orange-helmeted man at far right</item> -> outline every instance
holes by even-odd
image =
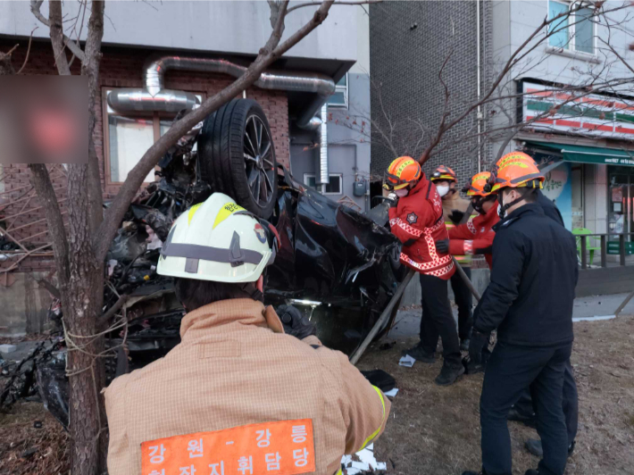
[[[567,229],[525,204],[493,227],[493,266],[473,327],[524,346],[571,342],[577,246]]]

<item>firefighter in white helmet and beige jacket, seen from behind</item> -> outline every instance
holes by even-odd
[[[388,398],[297,311],[282,325],[263,305],[276,234],[221,193],[175,221],[157,271],[187,312],[181,342],[104,390],[110,475],[333,475],[379,437]]]

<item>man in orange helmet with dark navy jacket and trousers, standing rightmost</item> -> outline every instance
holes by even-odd
[[[506,154],[494,171],[491,191],[497,192],[501,220],[494,228],[491,282],[474,312],[469,348],[471,359],[480,358],[488,333],[497,329],[480,397],[482,473],[511,475],[506,415],[530,387],[544,456],[538,471],[526,473],[563,475],[563,374],[573,340],[575,241],[537,203],[544,176],[529,155]]]

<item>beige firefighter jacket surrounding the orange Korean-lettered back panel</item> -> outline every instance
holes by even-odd
[[[343,454],[385,429],[388,398],[345,354],[316,337],[283,334],[271,307],[251,299],[208,304],[183,318],[180,336],[165,357],[104,389],[110,475],[148,475],[153,465],[144,461],[141,469],[147,441],[306,419],[313,423],[314,473],[333,475]],[[216,447],[213,456],[219,455]],[[215,469],[220,473],[220,465]]]

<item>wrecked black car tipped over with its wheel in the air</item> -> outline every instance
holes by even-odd
[[[117,354],[108,362],[111,378],[179,343],[184,311],[156,262],[171,223],[216,191],[278,230],[281,247],[265,278],[265,304],[296,305],[325,345],[355,351],[404,275],[400,243],[385,226],[386,206],[370,218],[297,183],[278,166],[266,116],[248,99],[235,99],[198,124],[159,166],[160,180],[130,205],[107,256],[104,312],[110,310],[113,321],[121,321],[116,313],[125,319],[125,328],[108,335]],[[59,306],[50,314],[63,318]],[[38,383],[48,408],[65,423],[68,398],[65,379],[55,376],[59,368],[59,357],[41,365]]]

